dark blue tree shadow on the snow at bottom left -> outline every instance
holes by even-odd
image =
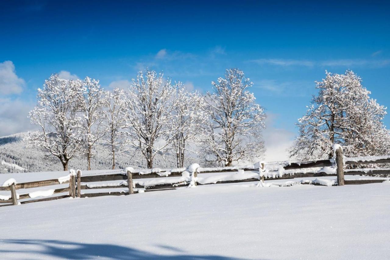
[[[12,249],[7,248],[7,244],[17,245],[12,246]],[[98,257],[112,259],[160,259],[160,260],[228,260],[228,259],[243,259],[231,258],[219,255],[187,255],[180,249],[160,246],[161,248],[171,249],[179,254],[174,255],[157,255],[147,251],[141,251],[125,246],[116,246],[111,244],[83,244],[76,242],[66,242],[60,240],[30,240],[30,239],[6,239],[0,240],[0,255],[2,253],[28,254],[39,257],[62,258],[62,259],[95,259]],[[13,249],[17,248],[17,249]]]

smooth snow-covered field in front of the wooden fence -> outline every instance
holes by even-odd
[[[206,185],[0,208],[1,259],[390,259],[390,182]]]

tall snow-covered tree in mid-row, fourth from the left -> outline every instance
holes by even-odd
[[[126,118],[129,140],[144,155],[147,167],[153,167],[153,158],[168,145],[170,98],[175,89],[163,73],[140,71],[132,80],[126,95]]]

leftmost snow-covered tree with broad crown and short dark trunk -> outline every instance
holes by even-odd
[[[38,89],[37,106],[30,111],[31,122],[41,130],[29,135],[29,143],[57,157],[68,170],[69,160],[83,153],[82,118],[78,100],[82,95],[81,80],[65,80],[57,74],[45,80]]]

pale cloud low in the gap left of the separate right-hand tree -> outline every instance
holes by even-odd
[[[268,113],[266,119],[267,128],[263,131],[266,146],[264,161],[266,162],[288,160],[289,154],[287,148],[294,142],[295,134],[293,132],[274,126],[276,118],[277,115]]]

